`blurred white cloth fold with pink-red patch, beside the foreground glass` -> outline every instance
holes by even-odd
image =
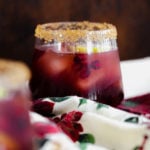
[[[108,150],[91,143],[75,144],[54,122],[30,112],[37,150]]]

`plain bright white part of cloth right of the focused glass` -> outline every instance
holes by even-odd
[[[150,92],[150,57],[121,61],[125,98]]]

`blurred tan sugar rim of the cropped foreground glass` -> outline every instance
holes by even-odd
[[[31,78],[31,72],[26,64],[20,61],[0,58],[0,83],[19,87]]]

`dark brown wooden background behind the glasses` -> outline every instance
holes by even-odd
[[[121,60],[150,56],[150,0],[0,0],[0,57],[29,66],[38,23],[110,22]]]

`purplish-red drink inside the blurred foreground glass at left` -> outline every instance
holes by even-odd
[[[26,98],[20,92],[0,100],[0,149],[32,150]]]

